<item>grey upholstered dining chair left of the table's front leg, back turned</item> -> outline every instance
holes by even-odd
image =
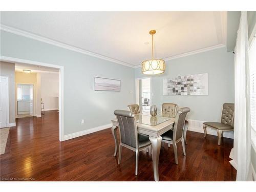
[[[151,146],[151,141],[148,136],[138,134],[137,124],[134,118],[135,115],[130,111],[115,110],[114,114],[117,119],[120,134],[118,164],[121,163],[122,146],[129,148],[136,152],[135,175],[138,175],[139,152],[145,149],[148,151],[148,147]]]

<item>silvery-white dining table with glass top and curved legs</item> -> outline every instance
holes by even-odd
[[[135,114],[135,119],[137,122],[138,133],[150,136],[150,141],[152,143],[152,160],[154,168],[154,179],[159,181],[158,174],[158,162],[159,154],[161,150],[161,135],[168,130],[172,130],[174,127],[175,117],[164,116],[160,114],[159,116],[151,116],[150,113],[140,113]],[[112,119],[112,135],[115,140],[115,152],[114,157],[117,155],[118,151],[118,139],[117,139],[117,129],[118,123],[116,119]]]

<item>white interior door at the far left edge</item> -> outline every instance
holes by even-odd
[[[6,78],[0,78],[0,127],[7,127]]]

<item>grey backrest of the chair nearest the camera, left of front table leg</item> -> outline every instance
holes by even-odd
[[[114,114],[116,115],[121,142],[134,148],[138,147],[138,130],[134,114],[124,110],[115,110]]]

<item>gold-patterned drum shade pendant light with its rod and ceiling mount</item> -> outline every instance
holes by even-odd
[[[152,35],[152,59],[144,60],[141,63],[141,72],[146,75],[156,75],[164,73],[165,70],[165,62],[163,59],[155,59],[154,58],[154,34],[156,34],[156,30],[151,30],[150,34]]]

